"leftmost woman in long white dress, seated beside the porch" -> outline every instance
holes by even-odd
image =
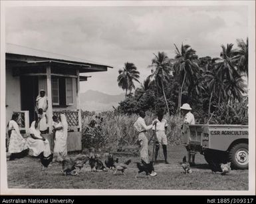
[[[27,142],[19,132],[19,126],[17,124],[18,118],[19,114],[13,114],[8,124],[8,134],[10,138],[8,152],[11,153],[10,160],[24,157],[28,153]]]

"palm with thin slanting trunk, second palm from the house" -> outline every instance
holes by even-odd
[[[158,52],[158,54],[154,54],[155,58],[152,59],[152,74],[149,77],[154,77],[156,81],[156,90],[158,92],[158,87],[162,88],[162,92],[164,94],[164,100],[166,101],[166,108],[168,110],[168,114],[170,115],[170,110],[168,107],[168,102],[166,99],[166,93],[164,91],[164,84],[168,81],[170,77],[170,59],[164,52]]]

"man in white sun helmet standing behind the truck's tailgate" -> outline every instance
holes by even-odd
[[[180,107],[180,109],[182,115],[185,115],[184,124],[194,125],[195,117],[190,112],[190,110],[192,110],[192,108],[190,108],[190,104],[183,104],[182,107]],[[191,153],[190,150],[188,150],[188,161],[192,163],[192,165],[195,165],[195,153]]]

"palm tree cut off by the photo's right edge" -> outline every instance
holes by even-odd
[[[248,78],[248,38],[246,43],[243,39],[237,39],[237,47],[239,47],[237,51],[239,71],[246,74]]]

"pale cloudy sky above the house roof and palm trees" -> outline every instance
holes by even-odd
[[[192,7],[7,7],[7,43],[109,64],[107,72],[88,73],[80,92],[123,92],[118,69],[133,62],[140,82],[150,74],[154,53],[174,58],[174,43],[197,55],[219,56],[221,45],[248,36],[246,6]],[[140,84],[136,84],[140,86]]]

